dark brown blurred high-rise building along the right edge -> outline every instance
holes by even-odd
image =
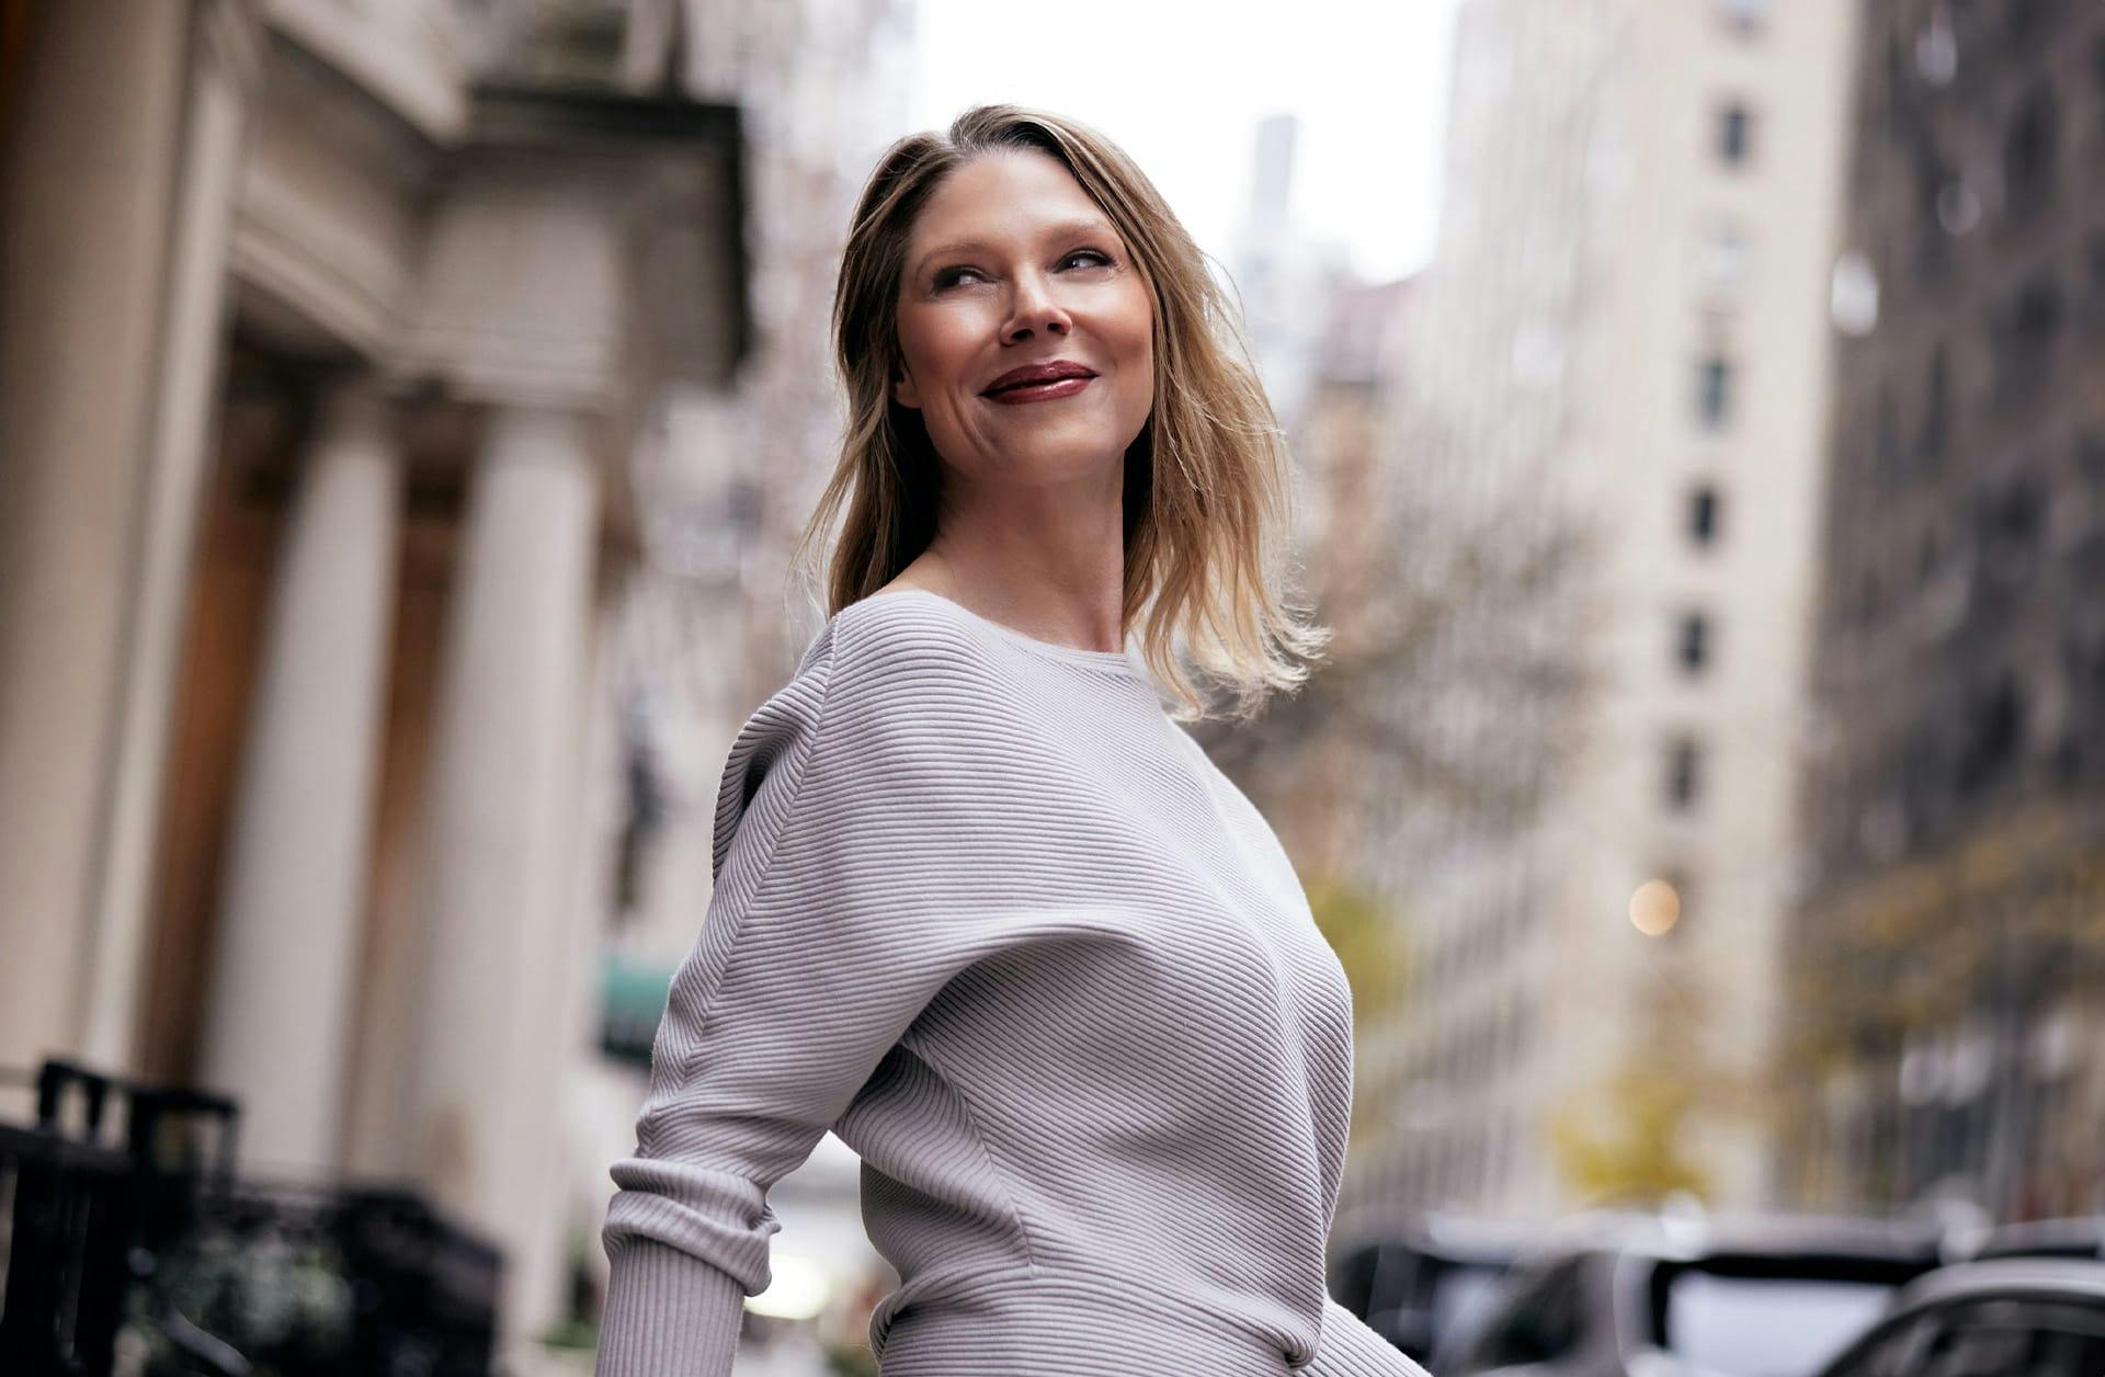
[[[1863,6],[1783,1152],[2105,1206],[2105,11]]]

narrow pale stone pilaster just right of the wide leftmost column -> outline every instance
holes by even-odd
[[[147,947],[162,766],[227,333],[234,187],[248,95],[261,69],[261,25],[253,0],[202,0],[194,15],[196,69],[168,255],[160,392],[145,436],[145,501],[133,550],[122,701],[107,785],[107,832],[95,876],[80,1034],[82,1055],[107,1067],[139,1061],[139,973]]]

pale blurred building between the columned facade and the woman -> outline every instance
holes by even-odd
[[[638,451],[642,558],[604,672],[625,762],[621,796],[602,800],[619,857],[608,1055],[579,1078],[573,1114],[598,1135],[575,1181],[596,1204],[606,1164],[634,1152],[650,1040],[707,912],[724,756],[825,617],[789,560],[840,455],[834,278],[863,179],[907,128],[914,78],[905,0],[690,0],[686,13],[703,38],[688,88],[741,112],[754,326],[735,387],[667,392]],[[777,1284],[754,1308],[787,1322],[777,1329],[815,1318],[867,1358],[869,1308],[890,1278],[859,1192],[859,1158],[831,1135],[775,1185]],[[604,1272],[596,1244],[587,1263]]]

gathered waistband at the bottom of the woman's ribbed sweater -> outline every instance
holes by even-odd
[[[1194,1297],[1057,1268],[911,1278],[869,1318],[884,1377],[1290,1377],[1301,1337]]]

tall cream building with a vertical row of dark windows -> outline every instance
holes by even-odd
[[[1398,800],[1360,861],[1417,954],[1351,1209],[1768,1194],[1850,8],[1459,11],[1389,514],[1465,533],[1419,581],[1539,573],[1406,705],[1480,796]]]

